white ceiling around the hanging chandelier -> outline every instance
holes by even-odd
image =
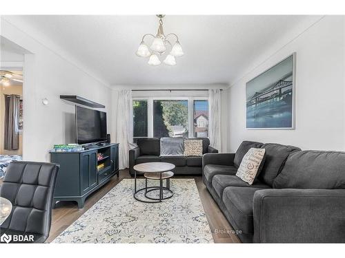
[[[155,15],[21,19],[109,85],[186,85],[233,82],[255,58],[317,17],[167,15],[164,32],[176,33],[185,52],[175,67],[152,67],[135,55],[141,37],[156,34]]]

